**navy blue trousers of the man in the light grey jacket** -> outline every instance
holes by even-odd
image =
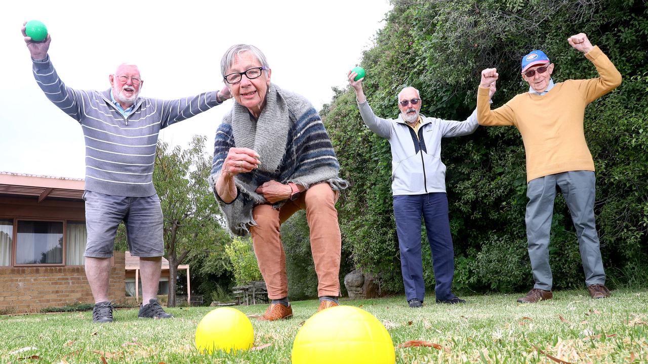
[[[448,197],[444,192],[393,196],[394,217],[399,236],[400,267],[407,300],[423,301],[425,284],[421,256],[421,215],[432,251],[437,299],[452,299],[454,248],[448,219]]]

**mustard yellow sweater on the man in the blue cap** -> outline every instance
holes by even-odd
[[[585,54],[600,77],[566,80],[545,95],[522,93],[491,110],[489,89],[479,87],[477,120],[485,126],[515,125],[524,142],[527,182],[571,170],[594,170],[583,132],[585,107],[621,84],[621,74],[599,47]]]

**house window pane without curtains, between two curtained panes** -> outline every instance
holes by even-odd
[[[63,264],[63,222],[17,223],[16,265]]]

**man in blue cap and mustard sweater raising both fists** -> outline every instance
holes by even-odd
[[[529,92],[516,95],[501,108],[491,110],[489,86],[498,79],[497,69],[481,71],[477,120],[485,126],[515,126],[522,135],[527,165],[526,228],[529,258],[535,286],[521,303],[551,299],[549,236],[556,187],[572,214],[581,251],[585,283],[590,296],[610,296],[594,221],[596,195],[594,160],[583,132],[585,107],[621,84],[621,74],[583,33],[568,38],[599,73],[588,80],[553,83],[553,63],[542,51],[522,58],[522,78]]]

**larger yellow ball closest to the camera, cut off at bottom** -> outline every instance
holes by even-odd
[[[297,332],[293,364],[393,364],[394,344],[371,313],[337,306],[316,313]]]

